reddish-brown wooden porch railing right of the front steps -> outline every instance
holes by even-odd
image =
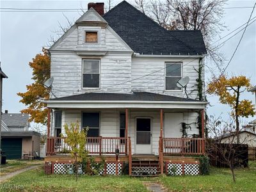
[[[204,153],[204,138],[163,138],[164,155],[202,155]]]

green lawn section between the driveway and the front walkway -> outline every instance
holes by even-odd
[[[16,188],[15,188],[16,187]],[[20,173],[4,182],[2,191],[147,191],[141,180],[129,176],[45,175],[42,168]]]

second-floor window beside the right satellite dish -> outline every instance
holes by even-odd
[[[177,81],[182,77],[182,63],[166,62],[165,63],[165,90],[181,90],[177,86]]]

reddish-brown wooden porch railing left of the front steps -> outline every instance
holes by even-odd
[[[86,138],[85,149],[89,154],[115,154],[116,147],[119,154],[127,154],[125,152],[125,138],[117,137],[88,137]],[[70,146],[65,143],[64,138],[49,137],[47,138],[47,155],[53,154],[69,154]]]

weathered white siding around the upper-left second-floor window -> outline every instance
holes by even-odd
[[[54,77],[52,92],[56,97],[92,91],[82,88],[83,58],[92,57],[72,53],[51,54],[51,77]],[[131,92],[131,54],[109,53],[104,57],[93,58],[100,59],[100,89],[93,92]],[[120,85],[113,86],[115,84]]]

